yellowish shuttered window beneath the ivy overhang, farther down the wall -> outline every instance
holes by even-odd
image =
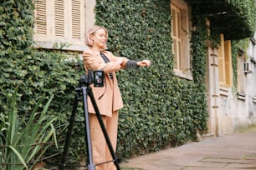
[[[232,58],[231,41],[224,40],[221,34],[221,44],[218,48],[219,82],[222,87],[231,87],[232,84]]]

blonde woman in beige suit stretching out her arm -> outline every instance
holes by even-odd
[[[120,90],[115,77],[115,72],[121,68],[149,67],[149,60],[136,62],[126,57],[115,57],[111,52],[105,51],[108,31],[100,26],[90,28],[85,37],[85,44],[89,47],[83,52],[84,68],[88,70],[102,70],[105,72],[104,87],[93,87],[92,91],[99,107],[110,142],[115,150],[117,140],[118,110],[123,107]],[[105,163],[112,160],[109,148],[105,142],[100,123],[95,115],[95,110],[88,99],[88,112],[90,117],[90,134],[94,164],[96,170],[115,170],[114,163]]]

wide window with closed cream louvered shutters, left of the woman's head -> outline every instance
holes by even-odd
[[[84,47],[84,0],[37,0],[34,41],[39,47],[66,44],[71,50]]]

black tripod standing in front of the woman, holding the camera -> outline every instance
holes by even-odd
[[[107,143],[108,148],[110,150],[110,154],[113,158],[113,160],[110,160],[110,161],[105,162],[105,163],[114,162],[116,169],[120,170],[119,163],[118,163],[118,160],[115,156],[114,149],[113,149],[113,147],[110,143],[110,138],[108,136],[108,133],[106,132],[104,122],[102,121],[102,118],[100,116],[99,108],[97,107],[97,104],[95,102],[95,97],[93,95],[91,87],[89,86],[92,83],[90,79],[91,79],[90,76],[87,76],[87,75],[81,76],[80,79],[79,79],[79,87],[75,89],[76,95],[75,95],[75,98],[74,98],[74,106],[73,106],[72,114],[71,114],[71,117],[70,117],[70,120],[69,120],[69,127],[68,127],[68,132],[66,134],[66,140],[65,140],[65,145],[64,145],[64,153],[63,153],[62,163],[59,165],[59,170],[64,170],[65,167],[72,166],[72,165],[69,165],[69,164],[66,164],[66,163],[68,161],[68,149],[69,149],[70,138],[71,138],[71,134],[72,134],[72,128],[73,128],[73,125],[74,125],[75,114],[76,114],[76,111],[77,111],[78,102],[81,101],[81,100],[83,102],[83,109],[84,109],[84,125],[85,125],[85,133],[86,133],[85,141],[86,141],[87,156],[88,156],[87,169],[88,170],[95,170],[95,166],[103,164],[103,163],[99,163],[99,164],[95,165],[94,162],[93,162],[91,139],[90,139],[90,122],[89,122],[89,113],[88,113],[88,105],[87,105],[87,94],[89,95],[90,100],[93,104],[93,107],[95,108],[96,116],[98,118],[98,121],[100,122],[100,128],[101,128],[101,130],[104,134],[106,143]],[[85,166],[77,166],[77,167],[85,167]]]

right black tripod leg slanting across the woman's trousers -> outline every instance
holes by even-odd
[[[95,97],[94,97],[94,95],[93,95],[93,92],[92,92],[92,90],[91,90],[91,87],[88,87],[87,92],[88,92],[88,95],[89,95],[89,97],[90,97],[90,100],[91,100],[91,102],[92,102],[92,104],[93,104],[93,106],[94,106],[94,108],[95,108],[96,116],[97,116],[97,118],[98,118],[98,120],[99,120],[99,122],[100,122],[100,128],[102,129],[102,132],[103,132],[103,134],[104,134],[106,143],[107,143],[107,145],[108,145],[108,148],[110,149],[110,154],[111,154],[111,156],[112,156],[112,158],[113,158],[113,160],[114,160],[115,167],[117,168],[117,170],[120,170],[120,166],[119,166],[118,160],[117,160],[117,158],[116,158],[114,149],[113,149],[112,144],[111,144],[111,142],[110,142],[110,138],[109,138],[109,136],[108,136],[108,133],[107,133],[106,130],[105,130],[105,125],[104,125],[104,122],[102,121],[102,118],[101,118],[101,116],[100,116],[100,111],[99,111],[99,108],[97,107],[97,104],[96,104],[96,102],[95,102]]]

